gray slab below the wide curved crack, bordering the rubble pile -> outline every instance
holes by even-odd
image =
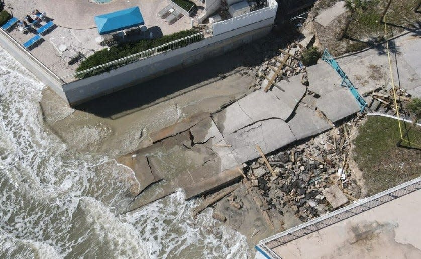
[[[298,105],[288,126],[296,139],[308,138],[331,128],[324,118],[303,104]]]

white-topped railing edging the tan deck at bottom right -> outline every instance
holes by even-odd
[[[400,198],[406,194],[421,189],[421,177],[405,182],[401,185],[380,192],[371,197],[359,200],[347,207],[338,209],[327,215],[308,221],[299,226],[288,229],[282,233],[263,239],[256,245],[256,249],[267,258],[279,259],[279,255],[273,252],[273,248],[303,237],[305,235],[317,232],[322,228],[336,224],[342,220],[358,215],[364,211],[382,205],[391,200]]]

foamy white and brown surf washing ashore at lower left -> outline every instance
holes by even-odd
[[[196,204],[181,191],[117,213],[133,198],[134,176],[106,156],[69,152],[44,125],[44,87],[0,48],[0,257],[249,255],[246,238],[210,211],[193,219]]]

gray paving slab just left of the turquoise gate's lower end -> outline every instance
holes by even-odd
[[[316,101],[316,106],[333,123],[360,111],[360,106],[348,88],[329,92]]]

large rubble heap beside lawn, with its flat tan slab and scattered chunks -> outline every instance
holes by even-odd
[[[263,158],[244,164],[247,179],[240,184],[247,194],[234,191],[223,202],[241,210],[245,195],[250,195],[273,228],[276,221],[282,222],[284,213],[306,222],[357,201],[361,189],[348,162],[350,139],[361,119],[355,116],[340,127],[268,156],[275,175]],[[212,199],[213,195],[206,197]],[[215,213],[217,218],[224,218],[222,221],[229,216],[224,211]]]

